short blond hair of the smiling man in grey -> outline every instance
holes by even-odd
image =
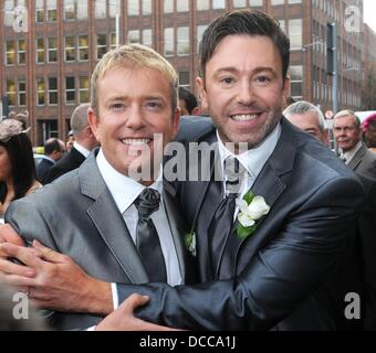
[[[129,66],[158,71],[169,82],[171,88],[173,110],[178,104],[178,76],[171,64],[153,49],[142,44],[127,44],[107,52],[97,63],[91,82],[91,106],[98,115],[97,83],[111,69]]]

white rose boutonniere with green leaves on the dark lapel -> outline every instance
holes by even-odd
[[[270,206],[262,196],[254,195],[251,190],[238,201],[238,206],[237,236],[244,239],[255,231],[257,221],[269,213]]]

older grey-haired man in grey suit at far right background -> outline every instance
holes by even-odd
[[[342,110],[333,124],[340,158],[358,174],[376,180],[376,154],[363,143],[359,118],[353,110]]]

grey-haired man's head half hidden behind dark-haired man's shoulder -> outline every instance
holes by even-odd
[[[303,131],[312,135],[328,147],[328,130],[323,113],[313,104],[300,100],[284,109],[283,115]]]

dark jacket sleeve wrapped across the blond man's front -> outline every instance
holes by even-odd
[[[137,309],[136,315],[174,328],[271,329],[311,297],[336,267],[363,201],[364,189],[354,179],[331,180],[289,215],[238,276],[175,288],[118,285],[119,301],[133,292],[147,295],[149,303]]]

